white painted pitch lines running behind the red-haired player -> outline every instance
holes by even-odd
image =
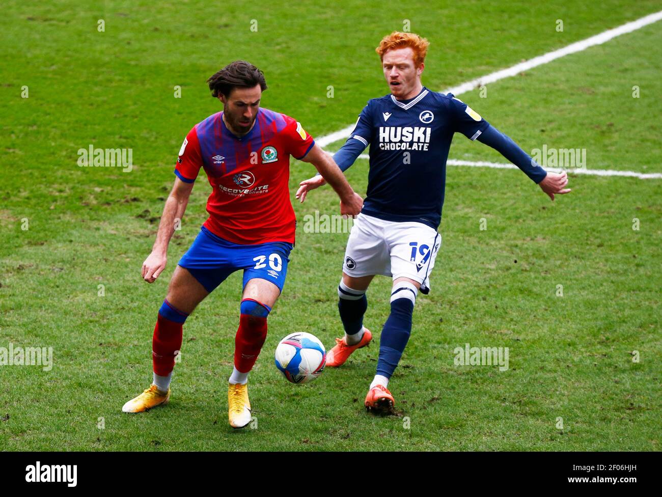
[[[453,93],[453,95],[455,96],[461,95],[462,93],[467,93],[467,91],[471,91],[481,85],[487,85],[488,83],[494,83],[495,81],[499,81],[500,79],[504,79],[506,77],[512,77],[518,75],[522,71],[526,71],[528,69],[542,66],[543,64],[547,64],[548,62],[551,62],[561,57],[565,57],[569,54],[575,54],[577,52],[581,52],[582,50],[586,50],[591,46],[601,45],[603,43],[608,42],[609,40],[612,40],[613,38],[616,38],[616,36],[620,36],[621,34],[626,34],[638,30],[639,28],[643,28],[643,26],[647,26],[648,24],[657,23],[657,21],[660,21],[661,19],[662,19],[662,11],[649,14],[647,16],[637,19],[636,21],[622,24],[621,26],[618,26],[616,28],[603,31],[599,34],[591,36],[590,38],[586,38],[585,40],[571,43],[568,46],[559,48],[558,50],[553,50],[552,52],[547,52],[546,54],[543,54],[541,56],[534,57],[524,62],[520,62],[520,64],[516,64],[510,68],[501,69],[500,71],[495,71],[493,73],[479,77],[477,79],[472,79],[471,81],[467,81],[466,83],[462,83],[461,85],[448,88],[442,91],[442,93]],[[355,124],[350,124],[349,126],[342,128],[342,130],[338,130],[326,136],[321,136],[320,138],[316,138],[315,142],[320,147],[324,148],[334,142],[337,142],[338,140],[342,140],[343,138],[347,138],[348,136],[350,136],[350,133],[354,129],[354,126]],[[365,158],[369,158],[369,156],[367,154],[361,154],[361,158],[365,159]],[[496,162],[484,162],[484,161],[471,162],[471,161],[459,161],[455,159],[449,159],[448,164],[469,165],[474,167],[497,167],[499,169],[517,169],[517,166],[512,164],[500,164]],[[554,171],[554,172],[557,171],[555,168],[548,168],[548,169],[549,171]],[[558,169],[558,171],[561,171],[561,169]],[[638,177],[641,179],[662,178],[662,174],[659,173],[636,173],[634,171],[574,169],[574,172],[578,174],[589,174],[589,175],[598,175],[598,176],[631,176],[631,177]]]

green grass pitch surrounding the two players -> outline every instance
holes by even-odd
[[[267,77],[263,107],[323,136],[387,93],[374,47],[405,20],[430,40],[423,83],[441,90],[643,17],[659,2],[5,4],[0,347],[53,347],[54,363],[0,366],[3,450],[660,449],[662,179],[573,174],[573,192],[551,203],[520,171],[449,167],[432,293],[418,298],[389,385],[399,416],[384,418],[363,410],[377,341],[306,386],[273,366],[290,332],[327,347],[341,336],[336,285],[347,234],[301,229],[306,214],[337,213],[328,187],[314,191],[295,204],[297,246],[250,376],[255,429],[227,422],[239,273],[187,320],[170,404],[120,412],[150,383],[156,312],[206,218],[201,176],[166,271],[153,285],[140,279],[181,141],[220,110],[209,75],[249,60]],[[661,59],[655,23],[461,99],[524,150],[585,148],[589,169],[660,173]],[[89,145],[131,148],[132,171],[78,167],[77,150]],[[450,158],[505,161],[461,135]],[[367,167],[360,159],[348,171],[362,194]],[[313,172],[293,160],[293,195]],[[389,287],[381,277],[368,292],[365,324],[377,335]],[[453,349],[465,343],[508,347],[509,369],[454,365]]]

